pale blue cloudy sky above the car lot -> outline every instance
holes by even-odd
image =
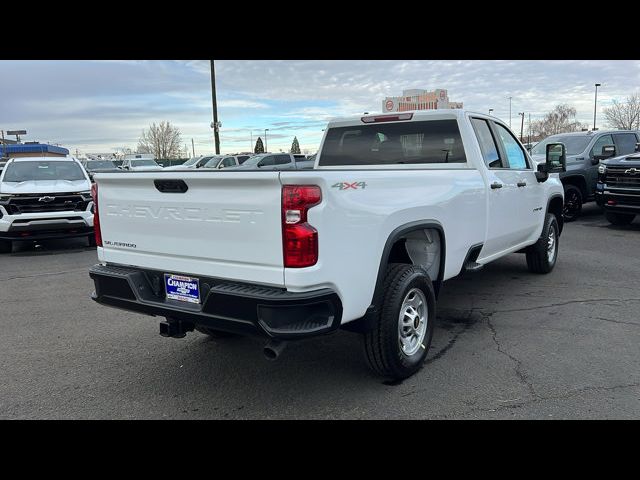
[[[449,91],[451,101],[488,112],[519,130],[517,112],[541,117],[568,103],[578,120],[598,126],[604,107],[640,90],[638,61],[216,61],[223,152],[247,151],[268,128],[270,151],[294,135],[316,151],[328,118],[379,112],[385,96],[407,88]],[[213,152],[209,61],[0,61],[0,129],[26,129],[24,140],[59,143],[72,152],[135,148],[143,129],[175,124],[191,151]],[[525,122],[526,129],[526,122]]]

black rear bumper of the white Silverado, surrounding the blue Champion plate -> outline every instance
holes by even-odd
[[[342,303],[330,289],[285,289],[200,278],[201,304],[165,297],[162,271],[94,265],[93,300],[111,307],[242,335],[295,340],[339,328]]]

